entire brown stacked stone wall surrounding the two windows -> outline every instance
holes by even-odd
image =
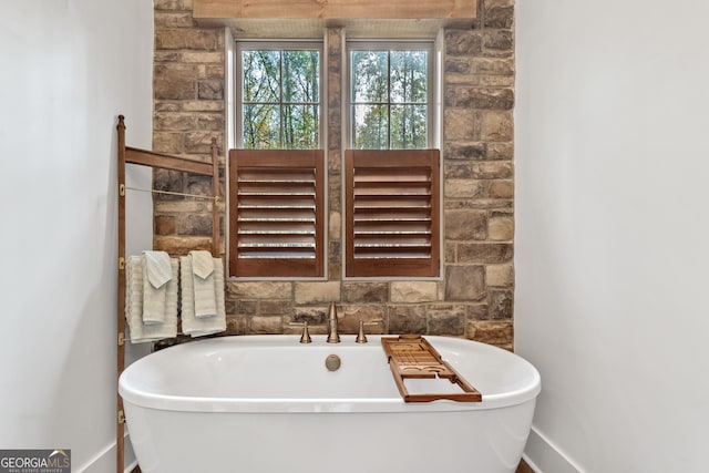
[[[197,27],[192,0],[154,4],[154,148],[207,158],[213,136],[222,150],[226,147],[227,34],[224,29]],[[341,279],[340,83],[346,32],[325,32],[329,278],[227,281],[228,333],[296,333],[299,329],[291,323],[305,320],[314,333],[323,333],[327,309],[335,300],[345,333],[354,333],[364,320],[371,322],[370,333],[444,335],[512,347],[513,19],[514,0],[481,0],[473,29],[444,32],[442,280]],[[208,178],[174,172],[156,172],[154,185],[210,193]],[[209,248],[209,206],[189,198],[156,198],[155,247],[172,254]]]

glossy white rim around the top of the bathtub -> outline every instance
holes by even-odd
[[[388,336],[381,336],[388,337]],[[220,337],[206,340],[191,342],[194,346],[198,343],[227,343],[228,340],[237,339],[242,343],[256,343],[258,347],[277,346],[282,347],[284,340],[292,343],[291,347],[308,349],[309,346],[298,343],[299,336],[235,336]],[[370,336],[370,343],[379,345],[380,336]],[[446,337],[427,336],[427,339],[433,343],[439,340],[446,341]],[[450,338],[450,340],[458,340]],[[483,392],[482,402],[455,402],[440,400],[433,402],[404,402],[400,397],[395,398],[217,398],[217,397],[188,397],[188,395],[169,395],[154,392],[146,392],[138,387],[132,385],[124,374],[119,381],[119,393],[124,402],[140,405],[143,408],[164,410],[164,411],[184,411],[184,412],[246,412],[246,413],[312,413],[312,412],[455,412],[500,409],[516,404],[522,404],[534,400],[541,392],[541,377],[536,368],[523,358],[507,352],[497,347],[487,346],[472,340],[464,340],[466,343],[477,343],[484,346],[487,350],[500,350],[503,356],[514,356],[518,362],[527,366],[532,379],[522,389],[510,390],[504,393],[485,394]],[[348,343],[343,343],[347,346]],[[435,343],[434,343],[435,345]],[[186,349],[186,345],[167,348],[158,353],[172,349]],[[192,347],[194,348],[194,347]],[[330,348],[330,347],[329,347]],[[158,354],[153,353],[153,354]],[[137,360],[135,363],[141,364],[147,362],[148,357]],[[129,367],[127,370],[130,370]],[[391,380],[393,383],[393,378]]]

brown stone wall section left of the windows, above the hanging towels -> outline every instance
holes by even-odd
[[[225,31],[197,28],[192,0],[154,0],[154,7],[153,150],[209,162],[212,137],[226,148]],[[153,182],[158,191],[212,195],[209,177],[160,169]],[[156,249],[212,248],[210,202],[161,195],[154,203]]]

